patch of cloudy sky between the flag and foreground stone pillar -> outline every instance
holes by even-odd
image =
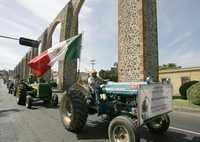
[[[103,11],[99,5],[104,5]],[[117,1],[85,1],[79,31],[83,32],[81,72],[110,69],[117,62]]]

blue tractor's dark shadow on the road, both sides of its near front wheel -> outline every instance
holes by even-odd
[[[108,122],[88,120],[83,131],[77,135],[79,140],[108,139]],[[200,136],[169,130],[163,135],[152,134],[147,128],[140,129],[140,142],[200,142]]]

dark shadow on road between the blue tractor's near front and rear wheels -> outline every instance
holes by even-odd
[[[88,120],[87,125],[77,137],[80,140],[107,139],[108,125],[108,122],[102,120]]]

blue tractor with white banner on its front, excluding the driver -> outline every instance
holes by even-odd
[[[99,103],[94,103],[87,84],[76,82],[61,100],[60,115],[64,127],[79,133],[88,115],[97,113],[110,118],[111,142],[139,141],[139,128],[162,134],[170,125],[172,86],[145,82],[107,82],[99,88]]]

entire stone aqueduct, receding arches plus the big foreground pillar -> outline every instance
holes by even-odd
[[[27,62],[52,44],[52,34],[61,23],[60,41],[78,33],[78,15],[85,0],[70,0],[38,38],[40,49],[31,49],[16,66],[15,75],[26,79]],[[118,76],[119,81],[158,80],[156,0],[118,0]],[[59,88],[68,88],[76,78],[77,62],[59,62]],[[45,76],[49,77],[50,73]]]

